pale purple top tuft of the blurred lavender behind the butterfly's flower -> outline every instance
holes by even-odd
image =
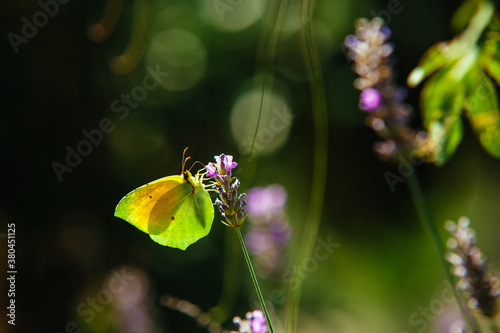
[[[248,212],[250,215],[278,213],[285,207],[287,193],[277,184],[268,187],[254,187],[248,193]]]

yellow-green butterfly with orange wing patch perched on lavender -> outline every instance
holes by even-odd
[[[115,216],[149,234],[158,244],[181,250],[208,235],[214,207],[203,174],[193,176],[184,170],[188,159],[184,159],[180,175],[160,178],[124,196]]]

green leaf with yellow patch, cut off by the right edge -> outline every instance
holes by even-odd
[[[483,148],[500,158],[500,113],[498,97],[490,78],[479,68],[467,75],[465,112]]]

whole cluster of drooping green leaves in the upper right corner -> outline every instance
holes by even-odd
[[[500,158],[500,110],[495,89],[500,82],[500,26],[494,19],[493,3],[467,0],[451,24],[463,31],[449,42],[434,44],[408,77],[408,85],[416,86],[432,75],[421,95],[432,160],[441,166],[454,154],[463,137],[462,111],[483,148]]]

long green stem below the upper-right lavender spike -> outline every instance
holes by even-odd
[[[441,238],[439,237],[439,232],[436,228],[436,224],[434,223],[434,220],[432,218],[432,215],[429,211],[429,207],[427,205],[427,202],[425,201],[424,194],[422,193],[422,188],[420,187],[420,184],[418,182],[418,178],[416,175],[416,171],[413,171],[411,175],[408,177],[408,185],[410,187],[410,192],[411,192],[411,197],[413,199],[413,204],[415,205],[415,208],[417,209],[418,215],[420,217],[420,221],[424,225],[424,227],[430,232],[432,240],[434,242],[434,245],[436,246],[436,249],[439,254],[439,261],[441,263],[441,266],[443,267],[443,270],[445,272],[446,279],[448,282],[451,284],[451,286],[455,285],[455,281],[453,279],[453,276],[451,275],[450,272],[450,267],[448,263],[446,262],[445,259],[445,247],[441,241]],[[466,308],[463,305],[462,299],[457,293],[457,290],[455,288],[452,289],[453,295],[455,296],[455,300],[457,301],[458,307],[460,308],[460,311],[462,312],[462,316],[464,317],[465,321],[467,322],[468,326],[471,328],[471,330],[475,333],[479,332],[479,326],[475,320],[475,318],[472,316],[468,308]]]

